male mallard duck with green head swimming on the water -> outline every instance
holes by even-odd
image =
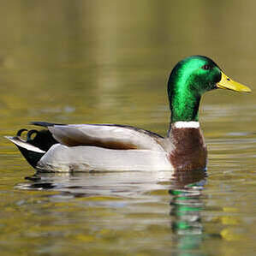
[[[31,122],[41,128],[21,128],[6,138],[39,172],[206,170],[199,103],[205,92],[216,89],[251,92],[231,80],[211,58],[186,57],[170,72],[170,128],[164,137],[120,124]]]

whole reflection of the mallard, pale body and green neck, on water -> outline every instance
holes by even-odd
[[[161,176],[158,179],[152,173],[145,175],[145,172],[66,175],[38,173],[27,177],[29,182],[20,184],[19,188],[59,191],[63,199],[67,193],[74,197],[100,195],[114,196],[113,199],[133,198],[135,204],[142,203],[142,205],[145,199],[154,200],[151,192],[159,189],[169,190],[170,228],[174,234],[172,237],[175,245],[171,248],[171,252],[174,255],[192,256],[204,255],[200,252],[200,247],[205,239],[201,211],[205,210],[202,192],[206,176],[205,170],[176,171],[169,177]],[[93,204],[99,202],[95,201]],[[130,204],[131,201],[128,205],[124,202],[122,205],[128,207]],[[109,205],[112,206],[113,204]]]

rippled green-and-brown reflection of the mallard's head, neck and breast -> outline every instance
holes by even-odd
[[[176,255],[204,255],[199,253],[199,247],[204,238],[200,212],[205,208],[202,190],[206,172],[176,172],[172,181],[170,217],[171,229],[176,234]]]

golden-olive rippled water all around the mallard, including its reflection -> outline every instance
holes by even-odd
[[[1,255],[254,255],[253,93],[205,95],[207,176],[179,181],[143,172],[33,176],[3,135],[30,121],[124,123],[164,135],[170,70],[194,54],[255,91],[255,9],[238,0],[0,3]]]

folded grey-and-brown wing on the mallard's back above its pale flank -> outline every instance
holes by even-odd
[[[34,123],[36,124],[36,123]],[[51,125],[54,139],[66,146],[98,146],[110,149],[150,149],[163,151],[163,137],[130,126],[111,124]]]

